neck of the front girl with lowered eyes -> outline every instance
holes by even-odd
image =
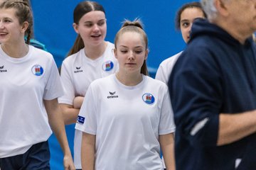
[[[142,74],[138,73],[128,74],[117,72],[116,77],[125,86],[136,86],[143,80]]]

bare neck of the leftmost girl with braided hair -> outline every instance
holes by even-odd
[[[1,44],[2,50],[9,55],[9,57],[21,58],[28,54],[28,45],[25,42],[20,44]]]

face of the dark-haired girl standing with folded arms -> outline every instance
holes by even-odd
[[[90,11],[80,18],[78,24],[73,23],[73,27],[80,34],[85,46],[100,45],[107,33],[105,13]]]

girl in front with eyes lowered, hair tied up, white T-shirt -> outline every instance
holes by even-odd
[[[90,84],[75,125],[82,169],[174,169],[175,130],[168,88],[147,76],[142,23],[125,21],[114,40],[119,71]]]

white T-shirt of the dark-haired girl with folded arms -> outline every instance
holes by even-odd
[[[85,96],[92,81],[106,77],[117,71],[118,63],[113,53],[114,44],[107,42],[103,55],[91,60],[85,55],[85,49],[67,57],[62,64],[60,78],[63,82],[65,95],[58,98],[59,103],[73,106],[75,96]],[[75,130],[74,163],[76,169],[81,166],[82,132]]]

